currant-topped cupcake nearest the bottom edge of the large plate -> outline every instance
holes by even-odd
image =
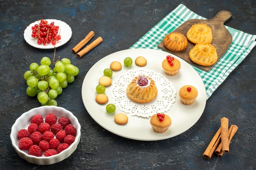
[[[152,129],[157,133],[164,133],[171,126],[171,118],[163,113],[157,113],[150,119]]]

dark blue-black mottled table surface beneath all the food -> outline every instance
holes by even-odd
[[[88,70],[108,54],[130,48],[180,3],[206,18],[230,11],[232,17],[225,25],[256,34],[254,0],[0,0],[0,169],[255,169],[256,48],[207,100],[198,122],[170,139],[144,142],[112,134],[97,124],[83,105],[81,87]],[[80,69],[74,83],[57,100],[58,106],[78,118],[81,141],[70,157],[49,166],[21,159],[9,137],[15,120],[40,106],[36,98],[27,96],[23,73],[30,63],[54,54],[53,49],[37,49],[24,40],[25,28],[38,19],[57,19],[70,25],[72,37],[56,49],[56,55],[69,58]],[[91,30],[103,42],[79,59],[71,49]],[[222,117],[239,127],[230,152],[204,159],[202,153]]]

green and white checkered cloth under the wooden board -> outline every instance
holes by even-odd
[[[130,48],[161,50],[157,45],[164,39],[165,35],[191,19],[206,18],[197,15],[183,4],[180,4]],[[256,45],[256,35],[250,35],[228,26],[225,27],[231,33],[233,41],[223,57],[208,72],[192,65],[204,82],[207,99]]]

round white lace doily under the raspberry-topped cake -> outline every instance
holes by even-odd
[[[157,97],[148,103],[137,103],[127,96],[127,85],[133,78],[139,75],[151,77],[157,86]],[[176,90],[171,81],[158,74],[155,71],[137,69],[129,70],[125,74],[121,74],[114,82],[110,89],[110,96],[120,111],[129,113],[132,116],[150,117],[156,113],[164,113],[168,111],[175,102]]]

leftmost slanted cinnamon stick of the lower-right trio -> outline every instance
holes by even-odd
[[[216,134],[213,136],[213,139],[211,139],[211,142],[207,146],[206,150],[203,153],[203,157],[205,159],[210,159],[213,155],[214,150],[217,148],[218,144],[220,143],[220,132],[221,128],[218,129]]]

